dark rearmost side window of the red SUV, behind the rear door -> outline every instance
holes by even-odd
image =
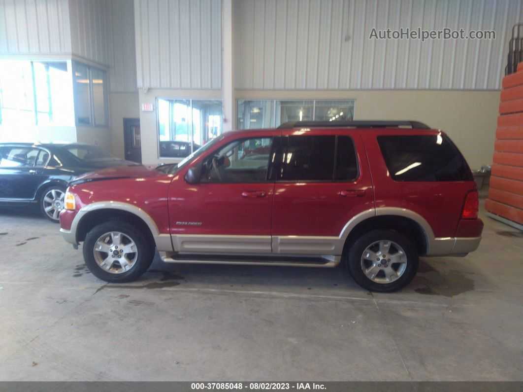
[[[472,173],[446,136],[378,136],[381,153],[396,181],[469,181]]]

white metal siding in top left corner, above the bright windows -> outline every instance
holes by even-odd
[[[67,0],[0,0],[0,54],[71,52]]]

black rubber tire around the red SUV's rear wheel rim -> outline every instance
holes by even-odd
[[[391,283],[378,283],[373,281],[365,274],[365,272],[363,272],[361,265],[363,252],[365,252],[373,243],[383,240],[395,242],[403,248],[407,260],[403,273]],[[350,247],[346,257],[350,275],[354,278],[357,284],[371,292],[390,293],[400,290],[412,281],[418,271],[419,265],[418,252],[413,242],[402,233],[394,230],[372,230],[363,234]],[[367,261],[365,263],[367,263]],[[392,266],[393,264],[391,264],[391,267]],[[394,268],[397,268],[398,266],[399,264],[394,264]],[[385,276],[383,271],[379,272],[379,274]],[[380,275],[377,275],[376,277],[378,278],[379,276]]]

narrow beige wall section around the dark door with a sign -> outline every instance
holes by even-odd
[[[123,146],[124,118],[140,118],[138,92],[109,93],[109,124],[111,126],[112,153],[119,158],[125,158]]]

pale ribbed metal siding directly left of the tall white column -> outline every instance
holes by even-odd
[[[221,1],[134,0],[137,86],[221,88]]]

